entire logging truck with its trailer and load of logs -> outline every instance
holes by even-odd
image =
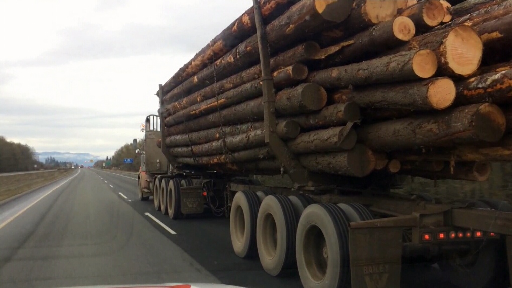
[[[506,197],[393,192],[512,162],[512,1],[460,2],[254,0],[159,85],[139,199],[224,215],[236,255],[307,288],[400,287],[415,263],[509,287]]]

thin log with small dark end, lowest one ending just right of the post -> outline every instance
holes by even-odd
[[[281,139],[295,138],[300,127],[293,121],[285,121],[276,126],[276,133]],[[354,132],[355,133],[355,132]],[[174,147],[169,154],[175,157],[194,157],[237,152],[265,145],[265,130],[260,128],[247,133],[225,137],[201,145]]]

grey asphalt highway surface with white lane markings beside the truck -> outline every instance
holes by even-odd
[[[172,221],[137,201],[135,175],[77,169],[0,207],[0,287],[166,282],[301,287],[235,256],[226,219]]]

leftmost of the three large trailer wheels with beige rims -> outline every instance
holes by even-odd
[[[254,256],[256,251],[256,222],[260,200],[251,191],[234,195],[229,214],[229,233],[234,253],[241,258]]]

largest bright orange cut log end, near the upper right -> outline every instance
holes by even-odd
[[[483,43],[480,35],[469,26],[454,28],[445,40],[446,61],[454,73],[473,74],[482,61]]]

